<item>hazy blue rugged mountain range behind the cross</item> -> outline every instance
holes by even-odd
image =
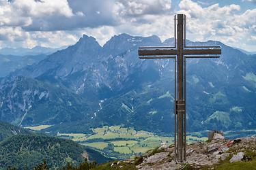
[[[20,126],[48,124],[49,133],[91,133],[122,125],[173,132],[173,62],[141,61],[139,46],[169,46],[157,36],[112,37],[101,47],[84,35],[74,46],[1,79],[0,119]],[[187,130],[256,128],[256,55],[219,41],[219,59],[187,61]]]

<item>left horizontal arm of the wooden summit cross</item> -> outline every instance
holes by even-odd
[[[177,55],[175,49],[141,49],[139,48],[139,56],[174,56]]]

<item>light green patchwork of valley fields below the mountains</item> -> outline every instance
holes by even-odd
[[[171,145],[174,137],[163,137],[147,131],[136,131],[124,126],[102,126],[93,133],[59,133],[57,136],[72,139],[85,146],[100,150],[113,158],[130,158],[157,148],[162,143]],[[206,141],[205,137],[187,136],[187,143]]]

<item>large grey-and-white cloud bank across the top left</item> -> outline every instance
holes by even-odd
[[[114,1],[0,0],[0,26],[60,31],[114,25]]]

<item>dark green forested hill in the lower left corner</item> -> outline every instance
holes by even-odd
[[[48,167],[78,165],[85,158],[104,163],[110,158],[71,140],[35,134],[0,122],[0,169],[32,169],[44,160]]]

